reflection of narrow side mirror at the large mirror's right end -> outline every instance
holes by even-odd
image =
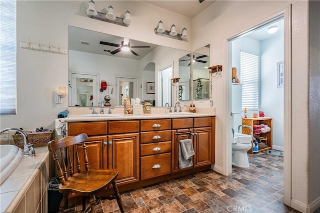
[[[188,53],[179,58],[179,101],[190,100],[190,55],[191,53]]]

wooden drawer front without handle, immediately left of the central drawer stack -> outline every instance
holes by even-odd
[[[139,121],[109,121],[108,134],[139,132]]]

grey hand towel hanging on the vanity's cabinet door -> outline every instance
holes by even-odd
[[[186,167],[191,167],[192,163],[192,156],[194,155],[194,150],[192,146],[191,139],[184,139],[178,142],[178,162],[179,168],[183,169]]]

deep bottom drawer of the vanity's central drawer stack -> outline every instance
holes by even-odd
[[[141,180],[170,174],[171,153],[140,157]]]

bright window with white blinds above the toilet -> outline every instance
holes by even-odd
[[[242,83],[242,110],[258,110],[259,56],[240,52],[240,76]]]

